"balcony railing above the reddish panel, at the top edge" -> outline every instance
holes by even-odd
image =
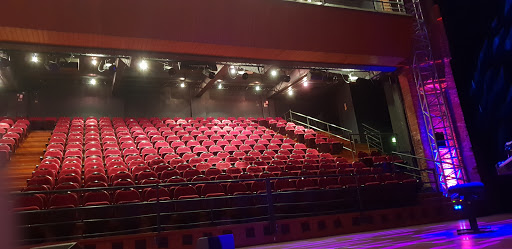
[[[403,0],[285,0],[338,8],[356,8],[386,13],[406,13]]]

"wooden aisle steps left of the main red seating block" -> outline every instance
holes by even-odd
[[[40,157],[50,137],[50,131],[31,131],[18,146],[7,163],[10,191],[20,191],[27,186],[27,179],[31,178],[35,166],[41,162]]]

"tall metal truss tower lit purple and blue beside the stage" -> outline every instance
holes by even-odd
[[[440,81],[437,73],[420,0],[411,0],[406,7],[407,12],[416,19],[414,22],[412,72],[425,122],[428,147],[430,147],[433,164],[437,177],[439,177],[440,189],[446,193],[448,187],[466,181],[452,121],[448,113],[445,95],[446,83]]]

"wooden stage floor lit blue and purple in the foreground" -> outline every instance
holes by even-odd
[[[489,226],[496,231],[459,236],[456,230],[469,228],[469,224],[467,221],[452,221],[245,248],[512,248],[512,214],[481,217],[478,218],[478,224],[480,227]]]

